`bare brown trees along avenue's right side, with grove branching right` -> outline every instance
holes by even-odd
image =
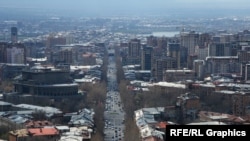
[[[134,121],[134,111],[146,107],[166,107],[175,105],[176,98],[185,93],[185,90],[176,88],[163,89],[152,87],[149,91],[131,91],[127,89],[130,81],[125,80],[119,48],[116,48],[117,81],[119,92],[126,112],[125,141],[140,140],[139,129]]]

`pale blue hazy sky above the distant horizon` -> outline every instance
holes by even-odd
[[[230,11],[230,13],[247,11],[250,9],[250,0],[0,0],[0,8],[48,10],[96,16],[163,15],[170,12],[216,14],[219,11]]]

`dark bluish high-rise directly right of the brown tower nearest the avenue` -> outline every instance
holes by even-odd
[[[141,51],[141,69],[151,70],[153,63],[153,47],[143,46]]]

